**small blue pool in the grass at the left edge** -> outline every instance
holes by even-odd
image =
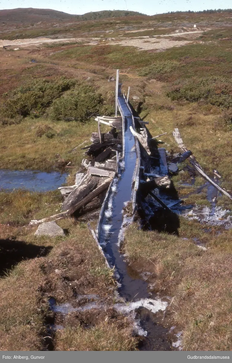
[[[0,191],[26,189],[33,192],[48,192],[61,187],[67,176],[68,174],[61,174],[59,171],[1,169]]]

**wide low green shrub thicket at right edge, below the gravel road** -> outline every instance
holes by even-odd
[[[191,79],[167,92],[172,100],[186,99],[196,102],[202,99],[223,108],[232,107],[232,80],[223,77]]]

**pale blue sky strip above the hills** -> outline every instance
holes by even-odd
[[[0,9],[40,8],[84,14],[100,10],[134,10],[147,15],[168,11],[228,9],[231,0],[0,0]]]

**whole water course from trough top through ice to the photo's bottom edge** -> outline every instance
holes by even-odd
[[[141,350],[171,350],[171,344],[168,342],[168,330],[158,325],[154,314],[159,309],[165,309],[162,307],[162,301],[148,292],[148,283],[139,278],[138,273],[129,270],[125,257],[119,252],[123,224],[125,223],[123,207],[125,207],[126,202],[131,200],[137,155],[134,147],[134,136],[130,131],[130,126],[133,126],[131,112],[122,95],[118,96],[118,100],[125,115],[125,158],[121,167],[121,176],[118,181],[115,180],[115,184],[111,188],[99,242],[109,264],[115,266],[121,297],[130,302],[134,301],[135,305],[138,302],[138,307],[141,306],[139,299],[148,299],[147,307],[141,307],[137,311],[141,328],[147,332],[147,338],[142,344]]]

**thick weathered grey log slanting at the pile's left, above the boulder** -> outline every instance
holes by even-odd
[[[75,188],[62,204],[62,210],[67,211],[88,195],[98,184],[99,178],[89,175],[85,183]]]

